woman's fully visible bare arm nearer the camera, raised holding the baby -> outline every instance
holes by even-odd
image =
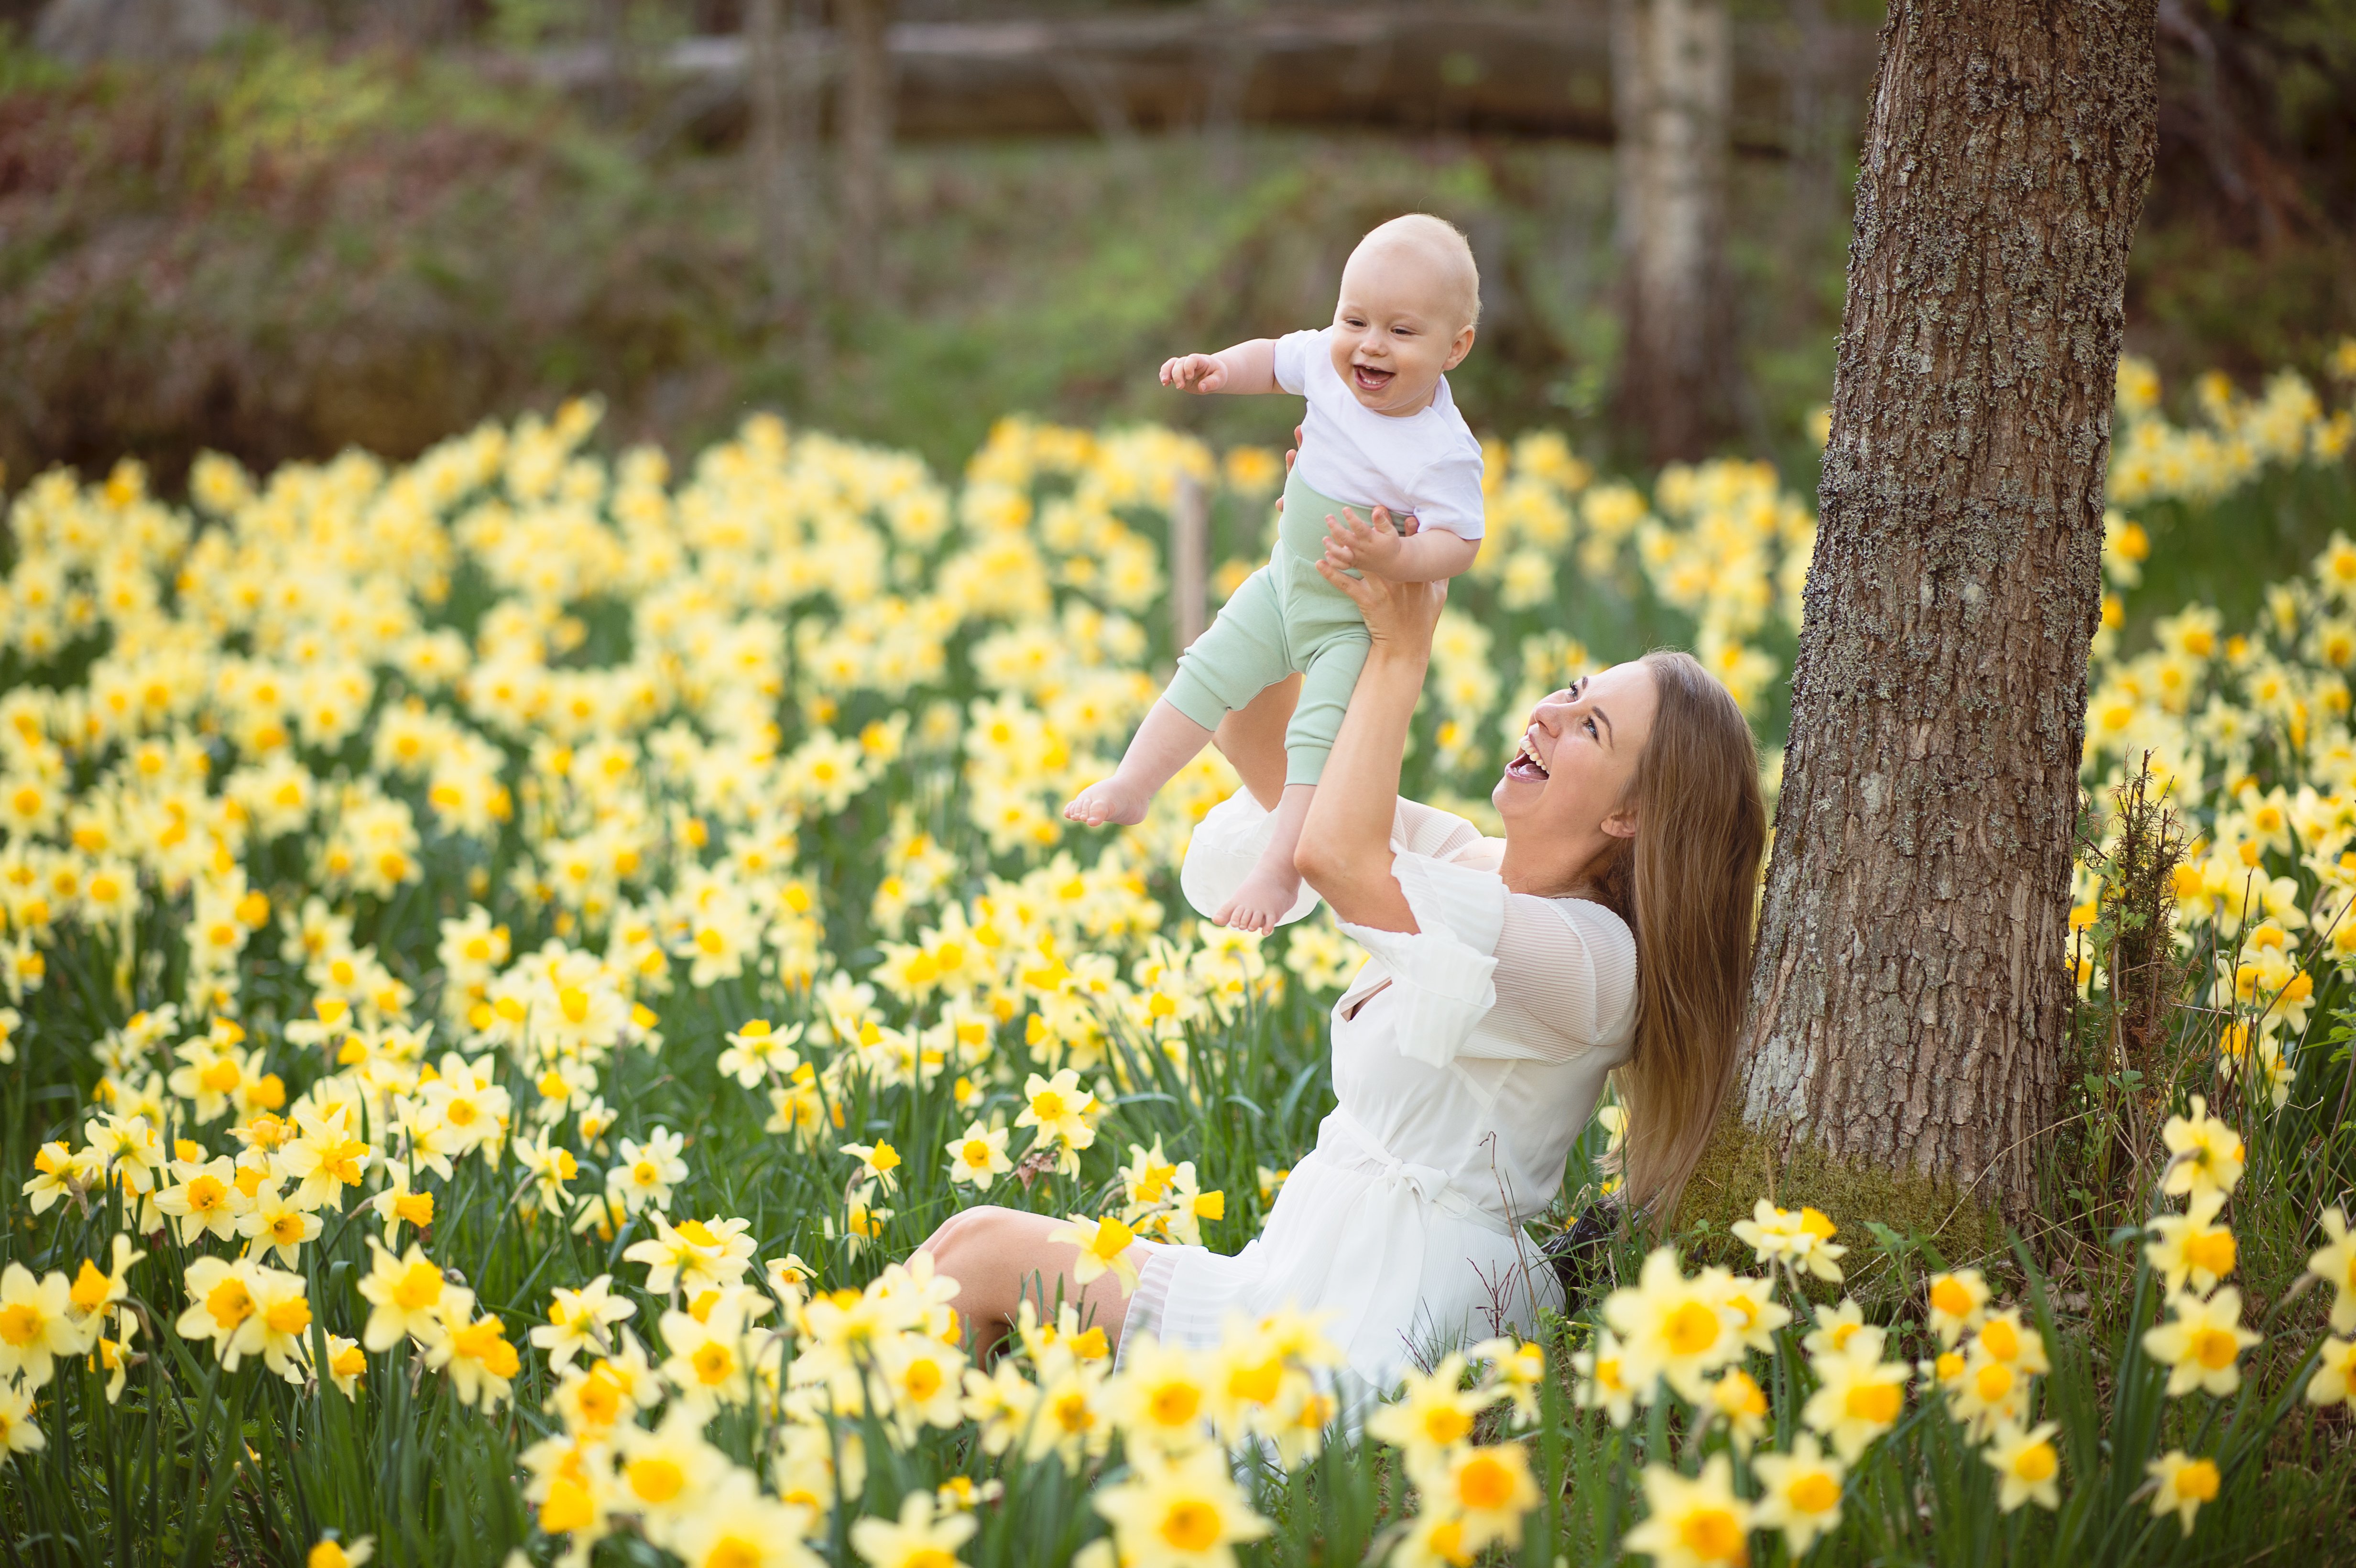
[[[1317,570],[1357,600],[1371,645],[1317,779],[1293,866],[1338,918],[1411,932],[1416,916],[1390,873],[1390,824],[1399,810],[1407,723],[1423,695],[1432,626],[1449,589],[1444,582],[1350,577],[1331,556]]]

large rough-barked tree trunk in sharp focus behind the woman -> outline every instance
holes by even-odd
[[[2153,0],[1882,26],[1734,1140],[1767,1170],[2031,1198],[2153,104]]]

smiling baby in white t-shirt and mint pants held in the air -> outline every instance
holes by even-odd
[[[1301,457],[1284,483],[1277,549],[1178,657],[1119,770],[1063,815],[1088,826],[1140,822],[1218,720],[1301,673],[1284,730],[1284,803],[1251,876],[1211,918],[1268,932],[1296,909],[1293,850],[1317,775],[1366,662],[1366,622],[1319,560],[1392,582],[1440,582],[1472,565],[1482,537],[1482,457],[1447,372],[1472,351],[1480,271],[1454,224],[1397,217],[1350,252],[1333,325],[1187,353],[1162,384],[1194,393],[1308,398]],[[1369,513],[1371,525],[1359,520]]]

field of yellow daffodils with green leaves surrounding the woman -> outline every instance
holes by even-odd
[[[756,417],[674,469],[568,405],[405,466],[205,459],[186,504],[31,478],[5,1561],[2347,1559],[2356,428],[2288,372],[2160,391],[2120,374],[2071,916],[2125,1208],[1946,1257],[1760,1194],[1362,1420],[1298,1314],[1114,1370],[1039,1311],[982,1366],[914,1253],[971,1203],[1067,1220],[1084,1271],[1235,1250],[1315,1142],[1359,954],[1178,897],[1225,765],[1058,815],[1169,669],[1180,485],[1232,589],[1275,452],[1006,421],[952,485]],[[1652,643],[1779,735],[1814,518],[1772,469],[1524,436],[1489,490],[1416,793],[1484,819],[1529,704]],[[2347,532],[2255,617],[2137,598],[2168,530],[2292,504]],[[2132,1059],[2130,777],[2182,838]]]

